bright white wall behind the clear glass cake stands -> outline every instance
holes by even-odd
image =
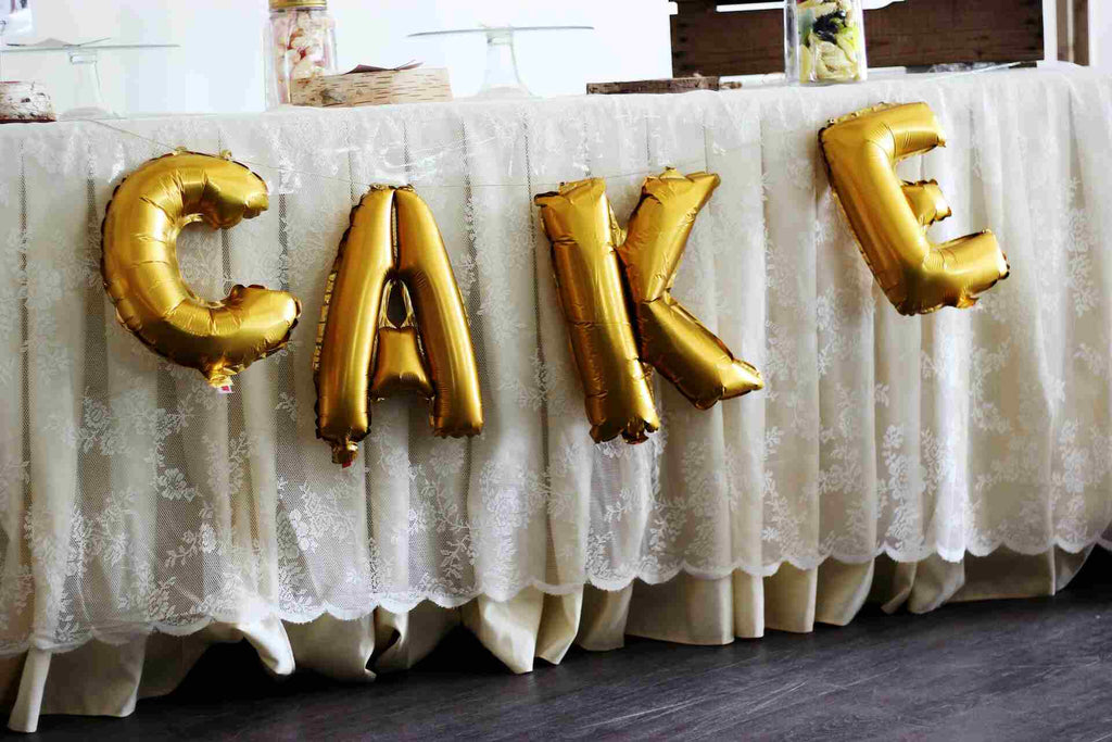
[[[107,102],[143,112],[250,111],[262,108],[266,0],[33,0],[36,33],[81,41],[181,44],[177,50],[102,52]],[[587,81],[672,73],[666,0],[330,0],[341,69],[410,59],[451,70],[457,96],[475,92],[483,38],[414,40],[406,34],[487,24],[588,24],[594,32],[537,33],[518,43],[525,82],[539,95],[583,92]],[[64,110],[72,70],[64,55],[6,55],[4,77],[37,79]]]

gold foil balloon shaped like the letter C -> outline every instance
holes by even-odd
[[[116,189],[101,227],[105,289],[116,315],[152,350],[215,387],[286,345],[301,314],[285,291],[234,286],[207,301],[178,268],[177,240],[195,221],[229,229],[266,210],[267,186],[225,157],[178,151],[143,164]]]

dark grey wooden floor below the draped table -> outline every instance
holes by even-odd
[[[1055,598],[540,665],[513,675],[460,631],[373,684],[275,681],[241,643],[130,719],[46,716],[39,739],[1112,740],[1112,557]]]

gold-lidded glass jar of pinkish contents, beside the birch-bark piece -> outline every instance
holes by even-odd
[[[270,0],[264,55],[267,108],[289,102],[294,80],[336,73],[336,23],[328,0]]]

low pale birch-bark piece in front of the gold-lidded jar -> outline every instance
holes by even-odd
[[[294,80],[295,106],[386,106],[451,100],[448,70],[430,67],[381,72],[353,72]]]

